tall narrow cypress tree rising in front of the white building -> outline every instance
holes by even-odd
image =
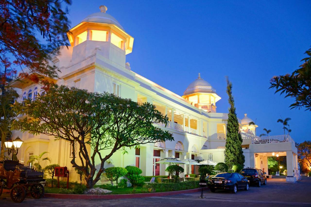
[[[227,94],[230,104],[228,123],[227,123],[227,140],[225,145],[225,163],[232,168],[233,164],[244,166],[245,157],[242,151],[242,137],[239,132],[239,122],[235,113],[234,99],[232,96],[232,83],[227,78]]]

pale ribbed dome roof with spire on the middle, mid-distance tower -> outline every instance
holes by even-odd
[[[193,93],[216,93],[216,90],[211,86],[210,83],[203,80],[199,73],[199,77],[190,83],[190,85],[188,85],[185,92],[183,92],[183,95],[186,96]]]

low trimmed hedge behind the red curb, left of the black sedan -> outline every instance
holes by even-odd
[[[146,188],[153,188],[159,191],[181,191],[199,187],[199,181],[151,183]]]

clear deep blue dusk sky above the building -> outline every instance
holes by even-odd
[[[134,37],[127,55],[132,71],[183,95],[198,73],[221,97],[228,112],[225,76],[233,84],[236,112],[271,135],[283,134],[276,120],[290,117],[296,142],[310,140],[311,112],[292,109],[293,98],[268,89],[274,75],[299,67],[311,46],[310,1],[77,1],[69,7],[75,26],[100,5],[108,7]]]

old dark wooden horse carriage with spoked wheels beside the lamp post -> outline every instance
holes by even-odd
[[[7,188],[10,189],[11,199],[16,203],[22,202],[28,192],[35,199],[42,198],[44,181],[43,172],[29,169],[19,161],[0,161],[0,196],[3,188]]]

